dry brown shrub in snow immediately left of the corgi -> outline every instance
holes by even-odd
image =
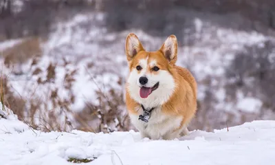
[[[125,113],[122,92],[110,89],[105,94],[102,91],[96,91],[96,93],[100,104],[87,102],[85,109],[75,114],[77,128],[104,133],[129,131],[129,116]]]

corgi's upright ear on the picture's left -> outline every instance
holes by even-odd
[[[144,50],[144,48],[137,36],[133,33],[128,34],[125,42],[125,52],[127,60],[131,61],[133,57],[142,50]]]

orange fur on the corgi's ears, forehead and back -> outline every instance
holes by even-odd
[[[135,34],[129,34],[129,36],[133,35]],[[126,50],[129,50],[129,36],[126,38]],[[142,44],[138,42],[134,47],[136,50],[133,50],[133,54],[131,54],[131,51],[128,51],[126,55],[130,72],[137,67],[140,59],[146,58],[148,59],[148,65],[152,61],[156,61],[155,66],[159,67],[159,69],[166,70],[173,76],[175,81],[173,94],[167,102],[161,105],[161,109],[166,115],[182,117],[180,126],[174,129],[174,131],[178,131],[188,125],[197,111],[197,83],[188,69],[175,65],[177,61],[177,41],[175,36],[171,36],[170,40],[174,42],[175,50],[166,50],[166,47],[162,45],[156,52],[146,52]],[[146,73],[157,74],[157,72],[152,71],[151,67],[146,69]],[[129,90],[126,88],[126,109],[130,114],[137,114],[137,109],[139,108],[140,104],[131,98]]]

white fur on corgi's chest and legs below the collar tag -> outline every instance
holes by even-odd
[[[179,129],[179,131],[174,132],[180,126],[181,116],[165,115],[157,107],[151,112],[148,122],[144,122],[138,120],[139,115],[143,114],[143,109],[139,108],[137,112],[137,115],[130,114],[129,116],[132,124],[140,131],[142,137],[149,137],[152,140],[171,140],[177,138],[182,131],[182,129]]]

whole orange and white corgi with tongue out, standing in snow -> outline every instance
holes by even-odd
[[[188,135],[197,111],[197,83],[177,61],[177,38],[170,35],[156,52],[146,52],[133,33],[126,36],[126,109],[142,138],[173,140]]]

